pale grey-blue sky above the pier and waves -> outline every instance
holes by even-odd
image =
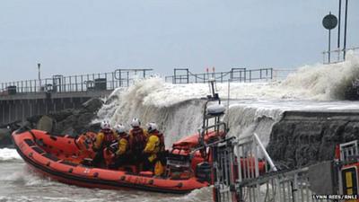
[[[295,67],[322,61],[321,26],[338,0],[2,0],[0,82],[173,67]],[[359,1],[349,0],[349,47]],[[333,31],[334,38],[337,31]],[[335,46],[333,39],[332,46]]]

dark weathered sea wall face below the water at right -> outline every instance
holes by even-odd
[[[331,160],[335,146],[359,139],[359,111],[286,111],[270,135],[267,151],[289,168]]]

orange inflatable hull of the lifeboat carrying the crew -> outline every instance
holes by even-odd
[[[35,129],[18,130],[13,132],[13,142],[22,159],[35,171],[67,184],[178,194],[209,185],[208,181],[198,179],[191,168],[177,174],[168,174],[167,177],[154,177],[151,171],[137,173],[126,169],[109,170],[84,165],[84,160],[93,157],[93,152],[86,148],[86,140],[93,136],[94,134],[88,133],[75,138],[53,136]],[[197,161],[200,162],[201,159]]]

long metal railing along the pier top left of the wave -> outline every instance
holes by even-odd
[[[87,75],[53,75],[52,78],[1,83],[0,94],[36,92],[89,92],[127,87],[135,79],[145,78],[152,69],[117,69],[114,72]]]

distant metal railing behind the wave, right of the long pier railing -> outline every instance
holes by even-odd
[[[165,77],[165,81],[170,83],[207,83],[210,79],[215,79],[219,83],[228,81],[243,83],[270,81],[273,79],[273,68],[232,68],[229,72],[206,72],[201,74],[194,74],[188,68],[176,68],[173,75]]]

